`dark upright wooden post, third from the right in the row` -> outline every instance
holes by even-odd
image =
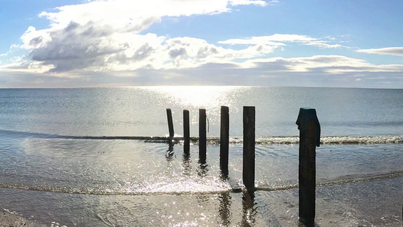
[[[220,169],[222,173],[228,173],[228,148],[229,148],[229,108],[228,106],[221,106]]]

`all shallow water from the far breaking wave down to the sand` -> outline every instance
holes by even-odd
[[[297,225],[295,145],[256,146],[258,191],[251,203],[242,190],[241,144],[230,146],[229,176],[223,178],[215,145],[208,146],[201,165],[196,145],[187,154],[182,144],[138,140],[15,138],[1,143],[8,147],[0,152],[0,204],[45,223],[244,226],[250,215],[253,226]],[[401,225],[401,149],[401,144],[317,148],[318,225]]]

